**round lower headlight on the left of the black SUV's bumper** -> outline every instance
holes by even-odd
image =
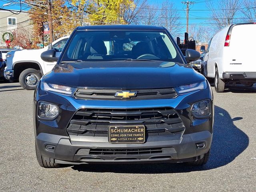
[[[40,102],[38,116],[43,119],[54,119],[59,115],[58,107],[54,104]]]

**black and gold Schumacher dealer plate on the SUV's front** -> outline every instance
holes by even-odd
[[[144,143],[145,126],[109,126],[108,141],[110,143]]]

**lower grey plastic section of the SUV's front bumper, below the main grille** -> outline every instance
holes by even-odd
[[[110,144],[108,142],[70,141],[68,137],[40,133],[36,144],[42,156],[60,164],[187,162],[202,158],[210,150],[212,134],[202,131],[183,135],[180,140],[152,141],[143,144]],[[201,147],[198,147],[200,144]],[[48,147],[50,146],[50,150]],[[154,149],[162,152],[143,154],[90,154],[95,149]]]

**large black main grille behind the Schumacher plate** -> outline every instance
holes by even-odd
[[[109,126],[144,125],[146,136],[182,135],[184,125],[172,108],[81,109],[67,131],[74,136],[108,137]]]

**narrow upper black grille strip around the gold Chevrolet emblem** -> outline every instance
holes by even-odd
[[[116,92],[122,92],[124,90],[112,90],[112,89],[86,89],[79,88],[74,96],[80,99],[97,99],[97,100],[143,100],[143,99],[164,99],[174,98],[177,96],[174,88],[162,88],[162,89],[137,89],[129,90],[131,92],[137,92],[136,97],[120,98],[115,97]]]

